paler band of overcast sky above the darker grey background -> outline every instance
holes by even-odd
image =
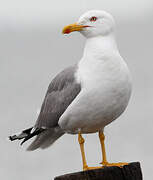
[[[141,21],[152,13],[152,7],[152,0],[1,0],[0,19],[15,24],[58,24],[65,18],[75,19],[89,9],[104,9],[124,21]]]

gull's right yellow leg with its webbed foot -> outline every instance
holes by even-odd
[[[124,165],[128,165],[128,163],[108,163],[107,158],[106,158],[106,150],[105,150],[105,135],[101,131],[99,131],[99,139],[100,139],[101,150],[102,150],[102,162],[101,162],[101,164],[103,166],[119,166],[119,167],[122,167]]]

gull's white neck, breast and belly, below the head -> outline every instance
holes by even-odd
[[[114,38],[87,40],[76,81],[81,92],[59,119],[66,132],[96,132],[122,114],[130,98],[131,78]]]

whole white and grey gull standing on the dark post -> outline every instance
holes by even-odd
[[[106,158],[104,127],[126,109],[132,90],[131,74],[121,57],[112,15],[90,10],[63,29],[63,34],[80,32],[85,38],[81,60],[59,73],[50,83],[35,125],[10,136],[10,140],[36,136],[27,150],[47,148],[65,133],[78,134],[83,170],[87,165],[82,134],[99,134],[101,166],[123,166]]]

